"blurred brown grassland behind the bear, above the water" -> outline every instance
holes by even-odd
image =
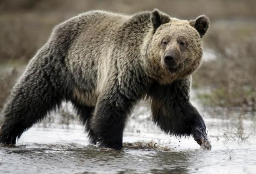
[[[204,64],[193,74],[196,96],[204,106],[255,110],[255,0],[1,0],[0,109],[56,24],[88,10],[133,14],[154,8],[180,19],[209,16]]]

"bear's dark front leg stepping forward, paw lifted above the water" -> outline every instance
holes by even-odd
[[[190,84],[191,77],[187,77],[169,85],[155,83],[152,86],[148,97],[153,122],[171,135],[192,135],[202,149],[210,150],[204,120],[189,101]]]

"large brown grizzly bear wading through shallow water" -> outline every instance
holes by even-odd
[[[71,101],[91,143],[121,149],[127,116],[148,99],[161,130],[192,135],[211,149],[189,95],[208,27],[204,15],[187,21],[157,9],[134,15],[90,11],[60,23],[12,89],[0,143],[15,144],[62,101]]]

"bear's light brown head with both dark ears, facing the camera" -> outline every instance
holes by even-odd
[[[187,21],[155,9],[151,13],[153,36],[149,43],[149,66],[160,83],[171,83],[197,70],[202,63],[202,37],[209,28],[205,15]],[[157,77],[158,76],[158,77]]]

